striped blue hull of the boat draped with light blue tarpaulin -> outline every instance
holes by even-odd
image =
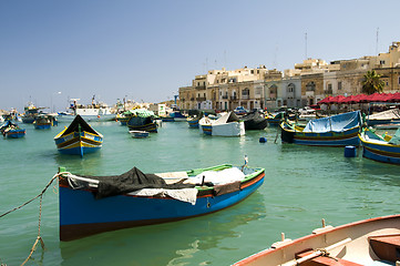
[[[281,141],[309,146],[359,146],[359,127],[352,127],[343,132],[312,133],[288,129],[285,122],[280,124]]]

